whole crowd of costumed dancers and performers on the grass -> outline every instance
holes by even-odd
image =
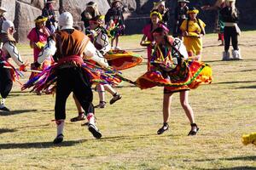
[[[237,26],[236,1],[217,1],[214,6],[204,6],[201,9],[219,11],[217,22],[218,27],[221,27],[219,38],[224,42],[223,60],[230,59],[230,40],[234,48],[233,58],[241,59],[237,45],[240,30]],[[189,105],[189,90],[197,88],[201,83],[212,82],[210,66],[201,62],[202,37],[206,34],[206,24],[198,18],[199,9],[189,8],[188,0],[177,0],[176,21],[173,36],[170,36],[171,29],[167,25],[170,10],[163,0],[154,3],[140,42],[148,49],[148,70],[136,82],[132,82],[113,71],[113,65],[106,59],[109,51],[122,51],[119,48],[119,36],[125,31],[122,1],[114,0],[105,15],[102,15],[95,2],[87,3],[81,14],[84,29],[73,25],[73,15],[69,12],[60,14],[56,20],[54,3],[46,2],[42,15],[34,20],[35,27],[27,35],[34,54],[31,69],[22,61],[15,46],[14,24],[3,17],[6,9],[0,8],[0,110],[9,111],[4,100],[9,95],[15,76],[19,74],[9,63],[9,58],[12,58],[19,65],[20,71],[32,71],[23,89],[33,87],[37,94],[55,92],[55,144],[61,143],[64,138],[65,106],[67,97],[72,92],[79,115],[73,117],[71,122],[87,119],[88,129],[93,136],[96,139],[102,137],[96,127],[95,109],[106,107],[105,91],[113,95],[110,105],[122,98],[113,88],[116,81],[131,82],[142,89],[164,87],[163,126],[157,131],[158,134],[169,128],[172,96],[179,93],[181,105],[191,125],[189,135],[198,132],[194,111]],[[113,73],[110,76],[109,71]],[[96,106],[92,104],[92,84],[96,84],[95,89],[99,93],[100,103]]]

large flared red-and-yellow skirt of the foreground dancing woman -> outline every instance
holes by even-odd
[[[166,87],[170,91],[195,89],[202,83],[212,82],[212,69],[198,61],[185,60],[174,71],[148,71],[136,81],[141,89]]]

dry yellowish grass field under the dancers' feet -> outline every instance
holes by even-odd
[[[96,110],[102,139],[94,139],[83,122],[69,122],[77,115],[70,96],[65,139],[54,145],[55,97],[20,92],[15,83],[6,102],[11,112],[0,112],[0,169],[256,169],[256,147],[241,144],[243,133],[256,132],[256,31],[242,33],[241,61],[221,61],[224,47],[218,46],[217,37],[209,34],[203,40],[203,60],[212,65],[213,82],[189,95],[200,127],[195,137],[187,136],[189,121],[177,94],[171,128],[157,135],[163,89],[140,90],[123,82],[117,88],[123,99]],[[121,47],[139,49],[146,57],[140,38],[122,37]],[[19,49],[23,58],[32,60],[32,49]],[[136,80],[145,71],[146,60],[123,74]]]

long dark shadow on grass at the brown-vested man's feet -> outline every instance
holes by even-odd
[[[8,144],[0,144],[0,150],[9,150],[9,149],[29,149],[29,148],[52,148],[52,147],[67,147],[73,146],[75,144],[80,144],[86,142],[88,139],[82,140],[68,140],[63,141],[61,144],[53,144],[50,142],[32,142],[32,143],[8,143]]]

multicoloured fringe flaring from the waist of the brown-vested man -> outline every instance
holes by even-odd
[[[55,74],[57,66],[58,65],[49,66],[49,68],[26,82],[21,90],[32,88],[31,92],[41,92],[42,90],[52,91],[55,88],[55,83],[57,81]],[[110,84],[114,86],[122,81],[119,77],[115,77],[116,71],[112,71],[110,69],[108,69],[108,71],[104,71],[100,69],[100,67],[92,67],[85,63],[81,65],[81,68],[84,70],[85,74],[90,77],[91,83]]]

